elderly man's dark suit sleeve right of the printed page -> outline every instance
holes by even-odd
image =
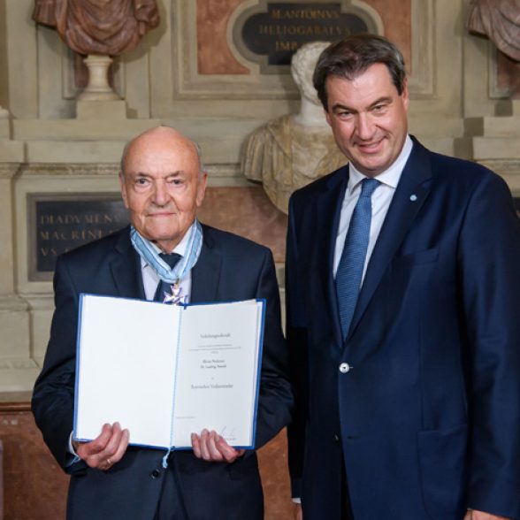
[[[256,294],[267,302],[256,424],[258,448],[290,422],[293,409],[293,392],[287,373],[287,346],[281,330],[279,287],[271,252],[265,255]]]

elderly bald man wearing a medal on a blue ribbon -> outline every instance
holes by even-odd
[[[164,266],[164,272],[170,269],[161,254],[180,254],[171,267],[174,273],[182,266],[173,285],[190,302],[267,301],[256,447],[288,423],[292,407],[271,252],[199,225],[195,213],[203,202],[206,173],[195,143],[172,128],[149,130],[126,147],[119,178],[132,227],[58,258],[56,310],[34,386],[36,423],[57,462],[71,474],[67,516],[260,520],[264,505],[256,455],[230,447],[216,432],[193,435],[193,451],[172,452],[166,469],[164,452],[128,446],[132,432],[119,423],[104,424],[90,442],[72,440],[79,294],[154,299],[163,282],[170,287],[159,276]]]

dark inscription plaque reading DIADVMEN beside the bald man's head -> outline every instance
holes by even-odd
[[[27,196],[30,281],[51,279],[58,255],[128,224],[119,194]]]

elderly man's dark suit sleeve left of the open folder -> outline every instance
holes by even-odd
[[[65,468],[70,462],[67,448],[73,431],[78,294],[61,258],[54,275],[54,291],[50,340],[42,372],[34,385],[32,408],[43,440],[57,463]]]

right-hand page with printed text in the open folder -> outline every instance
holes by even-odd
[[[173,445],[215,430],[228,444],[252,447],[263,302],[188,306],[181,317]]]

